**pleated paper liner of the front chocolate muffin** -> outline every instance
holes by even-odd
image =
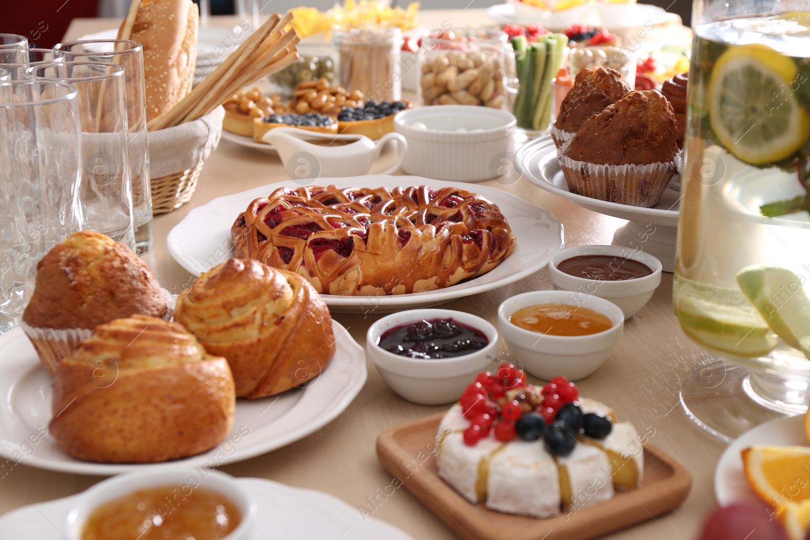
[[[602,201],[652,208],[676,171],[675,161],[646,165],[597,165],[560,156],[571,193]]]

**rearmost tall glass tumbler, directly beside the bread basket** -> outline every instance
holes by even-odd
[[[130,152],[132,178],[135,253],[143,255],[151,249],[154,242],[143,46],[130,40],[83,40],[61,43],[53,48],[53,52],[69,62],[109,62],[124,67],[126,117],[130,129],[127,148]]]

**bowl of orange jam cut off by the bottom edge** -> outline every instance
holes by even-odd
[[[247,540],[257,504],[216,470],[156,466],[108,478],[76,497],[68,540]]]

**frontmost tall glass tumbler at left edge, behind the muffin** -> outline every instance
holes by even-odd
[[[0,81],[0,333],[15,327],[36,263],[82,228],[77,91]]]

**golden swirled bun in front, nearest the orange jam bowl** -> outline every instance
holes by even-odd
[[[224,358],[181,325],[136,315],[100,325],[62,360],[49,430],[79,459],[151,463],[213,448],[235,407]]]

